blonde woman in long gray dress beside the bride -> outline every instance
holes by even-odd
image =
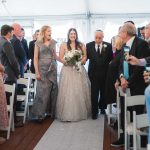
[[[56,42],[51,38],[51,28],[43,26],[35,43],[34,67],[37,92],[31,110],[32,119],[41,121],[46,114],[55,117],[57,99]]]

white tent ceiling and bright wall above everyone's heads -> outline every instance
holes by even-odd
[[[1,0],[0,26],[19,22],[26,38],[42,25],[53,28],[54,38],[66,37],[68,28],[75,27],[84,42],[92,40],[96,29],[102,29],[105,40],[117,34],[126,20],[137,27],[150,21],[150,0]]]

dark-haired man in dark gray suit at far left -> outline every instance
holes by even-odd
[[[0,38],[0,60],[5,68],[5,73],[7,74],[7,78],[5,80],[6,84],[16,84],[17,79],[20,75],[20,67],[19,63],[15,56],[15,51],[10,42],[10,39],[13,36],[13,28],[9,25],[3,25],[1,27],[1,35]],[[23,126],[22,122],[18,121],[16,118],[16,103],[17,103],[17,89],[15,90],[15,98],[14,98],[14,121],[15,127]],[[10,97],[9,93],[6,93],[7,98]]]

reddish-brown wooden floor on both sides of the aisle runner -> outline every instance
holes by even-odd
[[[51,118],[46,118],[41,124],[26,123],[24,127],[17,128],[14,133],[11,133],[10,140],[0,145],[0,150],[33,150],[52,122]],[[0,133],[1,136],[2,134],[4,133]],[[112,148],[110,146],[111,142],[116,139],[116,131],[107,125],[105,118],[103,150],[124,150],[123,148]]]

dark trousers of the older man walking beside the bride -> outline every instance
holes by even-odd
[[[91,80],[91,102],[92,102],[92,115],[98,114],[98,107],[106,109],[105,103],[105,78],[98,80]]]

